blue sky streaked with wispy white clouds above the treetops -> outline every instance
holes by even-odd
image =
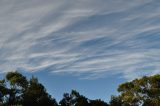
[[[0,76],[39,78],[109,100],[120,83],[160,72],[159,0],[0,0]]]

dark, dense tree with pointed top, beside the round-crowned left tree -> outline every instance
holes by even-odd
[[[30,79],[29,85],[23,94],[23,98],[24,106],[57,106],[55,99],[51,98],[36,77]]]

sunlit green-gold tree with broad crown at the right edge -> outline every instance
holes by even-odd
[[[160,106],[160,75],[144,76],[123,83],[118,91],[123,104],[128,106]]]

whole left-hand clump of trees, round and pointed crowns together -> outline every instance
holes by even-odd
[[[18,72],[9,72],[0,80],[0,104],[23,106],[57,106],[45,87],[32,77],[27,80]]]

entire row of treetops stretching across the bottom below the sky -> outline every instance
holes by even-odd
[[[160,75],[123,83],[118,92],[107,103],[72,90],[57,103],[36,77],[27,79],[19,72],[9,72],[0,80],[0,106],[160,106]]]

